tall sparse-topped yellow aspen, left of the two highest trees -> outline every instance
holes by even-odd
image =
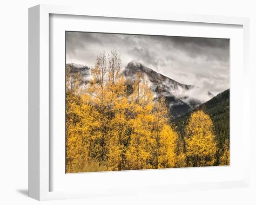
[[[105,52],[98,55],[96,63],[91,69],[92,81],[88,85],[88,96],[90,96],[90,103],[94,106],[94,113],[91,115],[97,115],[94,122],[96,125],[94,128],[96,141],[94,158],[101,163],[105,163],[107,160],[110,126],[107,61]]]

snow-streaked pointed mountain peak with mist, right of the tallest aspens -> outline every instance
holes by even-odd
[[[194,85],[179,83],[135,61],[128,63],[123,70],[124,76],[131,82],[136,79],[138,72],[146,76],[156,98],[165,97],[170,114],[174,118],[188,113],[203,103],[202,100],[191,96],[191,90],[199,89]],[[205,95],[209,99],[213,96],[210,92],[205,93]]]

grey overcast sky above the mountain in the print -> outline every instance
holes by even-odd
[[[91,67],[100,52],[112,49],[123,68],[135,60],[214,95],[229,88],[229,39],[66,32],[66,63]]]

